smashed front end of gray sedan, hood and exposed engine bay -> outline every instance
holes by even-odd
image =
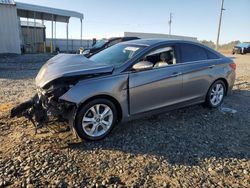
[[[37,93],[30,100],[14,107],[10,117],[26,117],[36,131],[46,126],[51,119],[67,122],[72,128],[77,104],[60,97],[79,81],[99,77],[112,70],[107,66],[96,65],[82,55],[59,54],[40,69],[36,77]]]

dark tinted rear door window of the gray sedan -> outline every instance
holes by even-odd
[[[180,50],[182,63],[208,59],[206,50],[196,45],[181,44]]]

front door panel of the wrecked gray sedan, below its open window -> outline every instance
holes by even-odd
[[[130,114],[147,112],[178,103],[181,88],[181,66],[177,64],[140,72],[130,72]]]

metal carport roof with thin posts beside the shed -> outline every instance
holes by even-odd
[[[81,45],[82,45],[82,20],[84,18],[82,13],[69,11],[69,10],[50,8],[50,7],[45,7],[45,6],[38,6],[38,5],[33,5],[33,4],[20,3],[20,2],[16,2],[16,8],[17,8],[17,16],[22,17],[22,18],[27,18],[27,19],[32,18],[34,19],[34,23],[36,23],[36,20],[51,21],[51,33],[52,33],[51,52],[53,52],[55,48],[53,30],[55,29],[56,31],[56,22],[66,23],[66,38],[67,38],[67,51],[68,51],[69,19],[71,17],[79,18],[81,22],[80,38],[81,38]],[[53,24],[53,22],[55,24]],[[55,25],[55,28],[53,27],[54,25]]]

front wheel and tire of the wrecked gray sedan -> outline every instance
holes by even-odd
[[[95,99],[80,109],[75,128],[82,139],[101,140],[111,132],[116,123],[115,105],[107,99]]]

